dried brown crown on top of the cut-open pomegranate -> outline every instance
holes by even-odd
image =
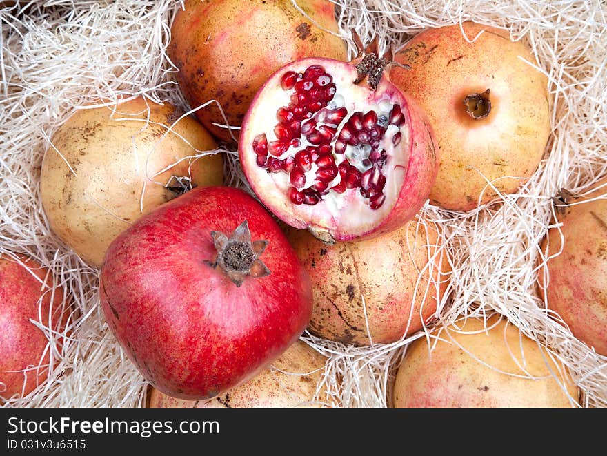
[[[352,29],[352,41],[354,41],[358,51],[354,59],[355,62],[358,62],[355,67],[358,73],[354,81],[355,84],[359,84],[366,79],[370,89],[375,90],[389,65],[397,65],[406,70],[410,69],[409,65],[403,65],[394,61],[394,52],[391,47],[388,48],[384,55],[379,56],[379,40],[377,39],[377,35],[365,48],[357,32]]]

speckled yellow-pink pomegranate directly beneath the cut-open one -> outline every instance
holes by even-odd
[[[435,318],[450,264],[446,251],[438,251],[440,232],[432,222],[427,231],[411,220],[370,240],[335,245],[305,230],[290,229],[287,237],[312,279],[310,333],[357,346],[370,344],[369,337],[389,344]]]

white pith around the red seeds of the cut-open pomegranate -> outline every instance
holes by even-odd
[[[277,119],[279,108],[288,108],[292,110],[295,106],[291,102],[291,96],[297,95],[295,87],[285,90],[281,87],[281,79],[283,75],[294,72],[299,77],[297,81],[304,81],[303,75],[306,70],[312,65],[320,65],[332,78],[332,83],[335,84],[335,95],[328,101],[326,107],[322,107],[315,114],[310,113],[310,117],[301,120],[302,132],[297,138],[294,138],[296,145],[290,146],[285,152],[279,155],[272,155],[268,152],[267,156],[270,160],[273,156],[280,160],[288,160],[289,157],[295,157],[297,152],[305,150],[306,147],[318,149],[319,142],[310,143],[308,138],[311,135],[317,134],[317,131],[323,126],[335,129],[335,135],[330,141],[329,155],[335,160],[335,169],[339,168],[341,163],[349,163],[356,167],[358,171],[364,175],[365,172],[370,172],[370,175],[375,175],[377,181],[378,176],[384,176],[386,183],[383,192],[379,193],[385,196],[384,203],[379,207],[371,207],[371,196],[361,195],[361,185],[356,185],[352,188],[347,188],[343,192],[332,190],[332,187],[339,186],[344,179],[344,175],[336,172],[335,178],[330,180],[328,187],[319,192],[318,202],[315,204],[294,204],[289,196],[289,189],[297,189],[305,192],[317,180],[317,171],[319,166],[317,163],[311,163],[309,169],[301,169],[305,175],[305,184],[303,186],[293,185],[290,178],[290,172],[281,170],[278,172],[269,172],[268,165],[259,165],[256,163],[259,154],[255,152],[254,145],[259,135],[264,135],[268,145],[272,141],[279,141],[274,132],[276,125],[281,123]],[[339,234],[350,234],[357,236],[372,231],[382,220],[390,214],[396,199],[401,190],[404,176],[408,167],[408,152],[409,152],[409,128],[406,120],[399,121],[399,125],[390,123],[390,113],[395,108],[400,110],[401,105],[391,98],[386,90],[385,84],[380,84],[374,92],[370,90],[366,81],[359,85],[352,84],[357,77],[357,72],[354,65],[348,63],[333,63],[324,59],[304,60],[297,65],[289,65],[284,68],[284,71],[279,72],[269,81],[263,88],[262,92],[257,97],[257,104],[253,116],[248,118],[246,144],[246,157],[248,161],[247,172],[249,178],[255,180],[257,185],[255,191],[261,201],[270,208],[277,216],[283,218],[283,214],[287,211],[289,216],[297,220],[297,225],[292,223],[292,219],[285,220],[294,226],[300,228],[312,227],[316,231],[330,231]],[[314,90],[314,89],[311,89]],[[304,92],[305,93],[305,92]],[[322,121],[326,116],[335,113],[339,108],[345,107],[347,114],[339,121],[339,123],[331,123]],[[377,115],[377,123],[385,128],[381,136],[377,136],[379,145],[375,148],[370,145],[370,141],[359,143],[357,145],[346,144],[343,152],[337,152],[336,143],[340,141],[340,133],[344,129],[344,125],[348,125],[352,115],[360,113],[362,116],[369,112],[375,112]],[[341,116],[340,116],[341,117]],[[404,118],[402,114],[401,118]],[[309,127],[310,123],[315,127]],[[284,122],[282,122],[284,124]],[[351,124],[349,124],[351,125]],[[306,127],[310,130],[306,131]],[[305,134],[304,134],[305,132]],[[392,138],[400,132],[400,139],[396,145]],[[357,134],[355,132],[355,134]],[[342,141],[343,142],[343,141]],[[353,141],[356,142],[356,141]],[[341,150],[341,149],[340,149]],[[375,151],[375,152],[374,152]],[[369,160],[370,154],[377,156],[381,152],[385,153],[386,158],[379,163],[375,160]],[[385,162],[385,163],[384,163]],[[297,167],[297,160],[294,166]],[[326,169],[326,167],[324,167]],[[309,191],[309,190],[308,190]],[[312,196],[314,198],[315,196]],[[375,201],[375,200],[374,200]]]

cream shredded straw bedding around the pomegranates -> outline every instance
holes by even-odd
[[[297,3],[297,1],[295,1]],[[326,355],[322,386],[332,406],[390,406],[391,384],[412,340],[435,343],[432,328],[466,316],[500,313],[568,367],[580,406],[607,406],[607,358],[579,342],[536,292],[546,273],[539,245],[553,225],[561,189],[583,194],[607,174],[607,6],[594,1],[336,0],[344,39],[379,37],[397,49],[426,28],[472,20],[523,40],[548,76],[553,132],[537,172],[517,194],[467,213],[432,205],[426,223],[441,228],[452,267],[437,322],[393,344],[345,346],[304,333]],[[70,324],[63,335],[40,322],[51,361],[48,380],[15,407],[134,407],[147,383],[110,333],[99,307],[99,271],[86,265],[48,227],[39,195],[40,166],[53,132],[84,105],[143,94],[193,112],[166,55],[181,2],[152,0],[21,1],[0,9],[0,255],[28,255],[50,268],[65,291]],[[468,37],[473,40],[475,37]],[[350,54],[355,48],[349,43]],[[209,101],[212,103],[213,101]],[[247,189],[235,149],[226,154],[226,184]],[[492,188],[494,183],[487,183]],[[157,185],[157,184],[156,184]],[[607,189],[606,189],[607,194]],[[420,271],[421,272],[421,271]],[[434,284],[436,285],[436,284]],[[436,293],[437,287],[417,289]],[[50,290],[52,292],[52,290]],[[66,337],[60,349],[57,338]],[[441,336],[442,337],[442,336]],[[58,361],[55,363],[55,361]],[[555,373],[558,378],[558,373]],[[0,390],[2,385],[0,385]],[[0,393],[1,395],[1,393]]]

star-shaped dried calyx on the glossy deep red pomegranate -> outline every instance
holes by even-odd
[[[228,238],[221,231],[211,231],[217,258],[212,267],[221,268],[240,287],[247,276],[268,276],[270,269],[259,259],[268,247],[267,240],[251,242],[248,222],[242,222]]]

